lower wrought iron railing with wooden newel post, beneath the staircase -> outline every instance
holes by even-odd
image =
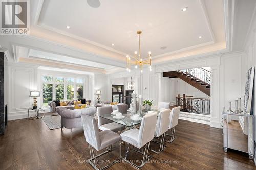
[[[181,106],[181,111],[210,115],[210,99],[193,98],[192,96],[176,97],[176,106]]]

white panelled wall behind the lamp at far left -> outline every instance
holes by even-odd
[[[31,90],[37,90],[37,68],[8,63],[8,120],[28,117],[33,99]]]

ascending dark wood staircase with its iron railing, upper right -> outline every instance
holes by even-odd
[[[210,96],[210,72],[203,68],[163,72],[163,77],[180,78]]]

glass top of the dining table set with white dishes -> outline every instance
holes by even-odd
[[[158,110],[152,110],[152,111],[157,112],[157,114],[159,114]],[[145,116],[146,113],[147,112],[142,112],[142,115],[140,117]],[[136,120],[136,121],[132,120],[131,117],[133,116],[133,114],[132,114],[132,112],[129,112],[129,111],[123,113],[124,118],[122,118],[122,119],[116,119],[116,118],[114,118],[114,115],[112,115],[112,114],[104,114],[104,115],[98,115],[98,116],[108,119],[108,120],[111,120],[113,122],[116,122],[118,124],[124,125],[125,126],[124,131],[139,127],[140,123],[142,121],[142,119]]]

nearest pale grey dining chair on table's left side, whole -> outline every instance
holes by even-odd
[[[91,158],[87,160],[87,162],[97,170],[106,169],[117,163],[121,159],[121,136],[115,132],[105,130],[99,132],[96,120],[88,115],[81,115],[84,136],[86,138],[86,142],[89,144],[90,156]],[[100,157],[103,154],[111,152],[111,146],[115,143],[119,142],[119,158],[116,160],[111,160],[111,164],[106,165],[103,168],[98,168],[96,165],[96,158]],[[97,151],[103,150],[106,148],[106,151],[97,155]],[[96,150],[94,152],[94,150]]]

